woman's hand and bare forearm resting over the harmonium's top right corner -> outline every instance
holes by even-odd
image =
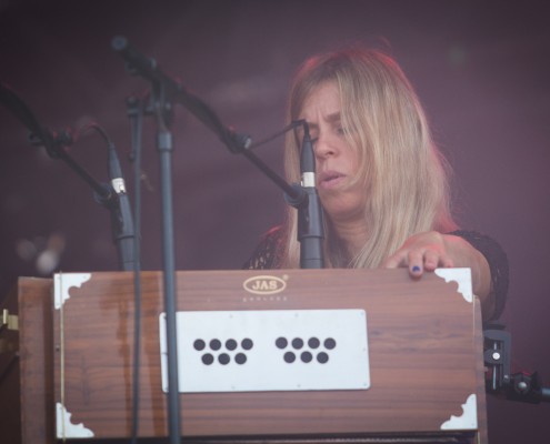
[[[408,268],[411,278],[419,279],[424,271],[437,268],[469,268],[473,293],[481,300],[483,317],[494,311],[491,294],[491,271],[487,259],[468,241],[437,231],[410,236],[403,245],[381,265],[386,269]]]

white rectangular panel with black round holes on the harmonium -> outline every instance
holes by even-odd
[[[364,310],[178,312],[180,392],[366,390]],[[160,315],[168,391],[166,314]]]

